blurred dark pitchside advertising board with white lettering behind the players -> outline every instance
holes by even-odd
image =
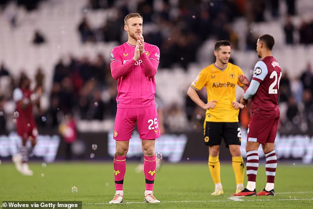
[[[51,131],[52,132],[52,131]],[[80,132],[78,140],[73,143],[74,159],[77,160],[112,160],[115,153],[115,140],[113,132]],[[241,129],[241,153],[246,157],[246,130]],[[200,131],[185,133],[167,133],[156,141],[156,153],[170,163],[181,161],[207,160],[208,148],[203,144],[203,135]],[[130,139],[128,158],[142,157],[141,139],[134,131]],[[97,148],[94,149],[96,144]],[[18,152],[21,140],[15,132],[0,135],[0,159],[10,158]],[[66,143],[58,134],[46,132],[39,135],[34,149],[34,157],[51,163],[55,160],[65,159]],[[304,164],[313,163],[313,136],[309,135],[280,135],[275,140],[276,154],[280,159],[301,160]],[[259,155],[264,157],[262,148]],[[222,144],[220,159],[229,160],[229,150]]]

